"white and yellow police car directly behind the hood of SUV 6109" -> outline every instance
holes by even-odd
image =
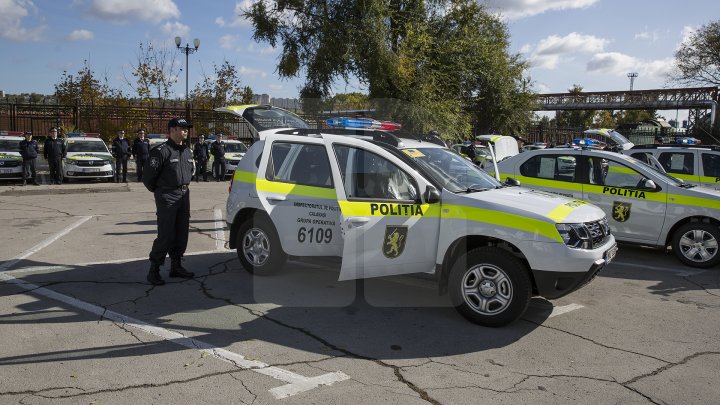
[[[574,170],[561,170],[570,160]],[[592,149],[529,151],[498,169],[501,178],[602,208],[618,241],[672,246],[677,258],[693,267],[720,262],[716,190],[686,184],[631,156]]]

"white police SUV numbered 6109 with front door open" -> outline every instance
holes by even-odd
[[[289,129],[240,161],[230,246],[248,272],[288,257],[342,258],[340,280],[433,273],[472,322],[499,326],[532,295],[588,283],[617,247],[605,214],[502,184],[432,136]]]

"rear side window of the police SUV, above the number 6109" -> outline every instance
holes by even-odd
[[[305,186],[333,186],[330,161],[323,145],[273,143],[266,178]]]

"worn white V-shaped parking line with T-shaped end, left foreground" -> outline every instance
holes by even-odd
[[[47,297],[56,301],[63,302],[67,305],[70,305],[72,307],[81,309],[83,311],[90,312],[92,314],[95,314],[97,316],[100,316],[104,319],[109,319],[111,321],[120,323],[124,326],[128,326],[131,328],[139,329],[145,333],[158,336],[160,338],[163,338],[167,340],[168,342],[178,344],[180,346],[184,346],[190,349],[198,349],[202,353],[207,353],[210,356],[213,356],[217,359],[220,359],[222,361],[228,362],[230,364],[235,365],[238,368],[242,369],[249,369],[252,371],[255,371],[256,373],[267,375],[269,377],[275,378],[280,381],[284,381],[288,384],[272,388],[270,389],[270,394],[273,395],[276,399],[282,399],[287,398],[296,394],[299,394],[301,392],[309,391],[313,388],[319,387],[321,385],[332,385],[333,383],[336,383],[338,381],[344,381],[349,379],[350,377],[340,371],[336,371],[334,373],[327,373],[316,377],[305,377],[297,373],[293,373],[292,371],[284,370],[279,367],[270,366],[269,364],[263,363],[261,361],[257,360],[248,360],[245,358],[245,356],[231,352],[229,350],[225,350],[219,347],[215,347],[209,343],[205,343],[203,341],[187,337],[179,332],[175,332],[169,329],[161,328],[158,326],[154,326],[148,323],[145,323],[143,321],[140,321],[138,319],[134,319],[128,316],[125,316],[123,314],[114,312],[114,311],[108,311],[105,310],[102,307],[99,307],[97,305],[93,305],[84,301],[81,301],[77,298],[73,298],[64,294],[60,294],[56,291],[49,290],[44,287],[39,287],[35,284],[28,283],[24,280],[17,279],[10,274],[9,272],[6,272],[6,270],[10,269],[13,265],[17,264],[19,261],[29,257],[33,253],[38,252],[40,249],[50,245],[54,241],[61,238],[63,235],[66,235],[73,229],[77,228],[78,226],[82,225],[84,222],[89,220],[92,217],[83,217],[80,221],[74,223],[73,225],[65,228],[60,233],[56,234],[55,236],[48,238],[47,240],[35,245],[31,249],[27,250],[26,252],[23,252],[16,258],[9,260],[2,265],[0,265],[0,281],[4,281],[9,284],[14,284],[20,288],[23,288],[25,290],[32,290],[33,294],[37,294],[43,297]],[[47,266],[46,266],[47,267]]]

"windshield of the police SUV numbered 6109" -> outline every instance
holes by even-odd
[[[502,183],[472,162],[445,148],[402,149],[428,176],[453,193],[498,188]]]

